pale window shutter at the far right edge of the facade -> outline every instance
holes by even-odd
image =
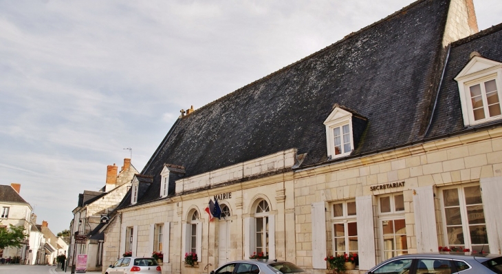
[[[486,233],[490,253],[500,253],[502,249],[502,177],[481,179],[481,198],[485,211]],[[489,206],[488,206],[489,205]]]

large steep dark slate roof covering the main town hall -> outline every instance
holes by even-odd
[[[292,148],[307,153],[303,167],[327,161],[323,122],[334,104],[367,118],[352,156],[422,140],[449,3],[417,1],[179,118],[142,171],[154,177],[149,199],[164,164],[190,177]]]

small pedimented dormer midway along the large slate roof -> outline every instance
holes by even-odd
[[[327,156],[331,159],[348,156],[366,127],[366,118],[335,105],[324,121],[326,126]]]

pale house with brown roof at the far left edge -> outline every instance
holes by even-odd
[[[0,229],[9,229],[10,224],[23,226],[25,233],[31,230],[30,216],[32,206],[28,204],[20,195],[21,185],[12,183],[10,185],[0,185]],[[8,247],[0,249],[0,258],[19,257],[20,262],[25,262],[25,257],[29,250],[28,239],[23,246]]]

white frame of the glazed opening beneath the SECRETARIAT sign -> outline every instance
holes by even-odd
[[[395,196],[402,196],[403,198],[403,210],[396,210],[395,209]],[[389,197],[390,199],[390,206],[391,206],[391,209],[389,212],[382,212],[382,204],[381,204],[381,200],[380,198],[385,198],[385,197]],[[405,212],[405,204],[406,202],[404,202],[404,194],[402,192],[398,192],[398,193],[390,193],[390,194],[385,194],[385,195],[380,195],[380,196],[377,196],[377,199],[378,199],[378,227],[380,229],[380,255],[382,256],[382,259],[383,260],[386,260],[386,259],[389,259],[389,257],[386,257],[385,253],[386,252],[392,252],[393,255],[391,257],[395,257],[396,255],[401,255],[401,254],[407,254],[408,253],[408,249],[410,248],[408,246],[408,231],[407,231],[407,228],[406,228],[406,218],[404,217],[404,212]],[[393,222],[395,220],[404,220],[404,229],[406,230],[405,234],[400,234],[400,233],[395,233],[395,227],[394,227],[394,231],[393,231],[393,237],[395,238],[396,235],[405,235],[405,238],[406,238],[406,249],[397,249],[397,243],[396,242],[393,242],[393,247],[392,249],[389,249],[389,250],[385,250],[384,246],[385,246],[385,242],[384,242],[384,226],[383,226],[383,222]]]

